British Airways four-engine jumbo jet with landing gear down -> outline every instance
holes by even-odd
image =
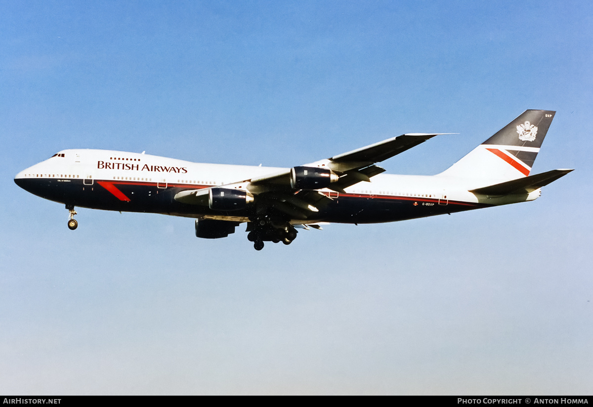
[[[297,228],[393,222],[533,201],[568,174],[530,175],[556,112],[525,110],[447,170],[382,174],[377,163],[435,136],[406,133],[292,168],[202,164],[145,152],[62,150],[15,176],[34,195],[66,205],[195,218],[196,236],[219,239],[247,222],[256,250],[290,244]],[[371,182],[372,181],[372,182]]]

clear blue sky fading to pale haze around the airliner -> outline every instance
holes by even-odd
[[[593,6],[0,2],[0,393],[590,394]],[[556,110],[520,205],[242,231],[67,212],[18,171],[66,148],[295,166],[406,132],[435,174]]]

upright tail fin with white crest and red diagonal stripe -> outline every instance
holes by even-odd
[[[525,110],[439,175],[500,181],[528,176],[555,113]]]

